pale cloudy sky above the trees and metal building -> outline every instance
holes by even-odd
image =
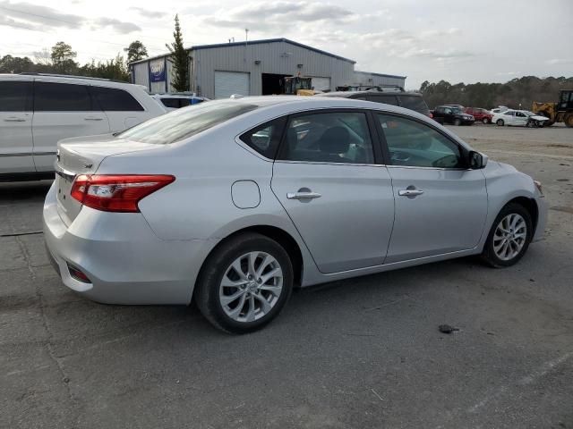
[[[424,80],[505,82],[573,75],[573,0],[0,0],[0,56],[58,41],[87,63],[141,40],[167,52],[179,14],[185,46],[290,38],[356,61],[355,69]]]

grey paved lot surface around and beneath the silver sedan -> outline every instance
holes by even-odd
[[[545,240],[504,270],[297,290],[241,337],[74,295],[38,233],[48,183],[0,184],[0,427],[573,428],[573,130],[451,129],[543,181]]]

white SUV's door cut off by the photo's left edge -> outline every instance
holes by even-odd
[[[32,81],[0,81],[0,174],[34,172]]]

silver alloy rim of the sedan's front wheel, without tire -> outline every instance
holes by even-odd
[[[502,261],[517,257],[527,240],[527,224],[521,214],[511,213],[501,219],[493,234],[493,251]]]

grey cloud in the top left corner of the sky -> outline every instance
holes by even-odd
[[[9,0],[0,0],[0,10],[4,21],[12,18],[36,26],[79,29],[85,21],[80,15],[61,13],[51,7],[27,2],[12,3]]]

